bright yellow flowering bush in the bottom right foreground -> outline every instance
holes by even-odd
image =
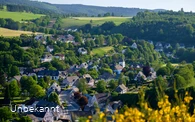
[[[186,92],[184,100],[177,105],[172,105],[168,96],[164,95],[158,102],[157,110],[142,101],[141,108],[128,108],[123,114],[115,112],[112,119],[116,122],[195,122],[195,113],[189,113],[189,103],[193,98]],[[195,112],[195,110],[194,110]],[[93,122],[106,122],[106,114],[99,112],[98,119],[92,118]]]

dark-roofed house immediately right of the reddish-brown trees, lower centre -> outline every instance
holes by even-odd
[[[90,103],[88,105],[94,106],[94,104],[97,104],[101,111],[104,111],[106,109],[106,104],[109,102],[111,98],[110,93],[99,93],[93,95]]]

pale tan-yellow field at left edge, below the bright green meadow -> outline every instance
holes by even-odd
[[[0,28],[0,36],[13,37],[13,36],[20,36],[21,34],[32,34],[32,32]]]

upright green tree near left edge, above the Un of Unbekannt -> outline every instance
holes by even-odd
[[[18,86],[18,82],[16,80],[11,81],[9,84],[9,90],[11,97],[17,97],[20,93],[20,88]]]

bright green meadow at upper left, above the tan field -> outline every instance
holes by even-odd
[[[42,14],[33,14],[33,13],[25,13],[25,12],[8,12],[8,11],[0,11],[0,18],[10,18],[14,21],[22,21],[22,20],[31,20],[36,19]]]

